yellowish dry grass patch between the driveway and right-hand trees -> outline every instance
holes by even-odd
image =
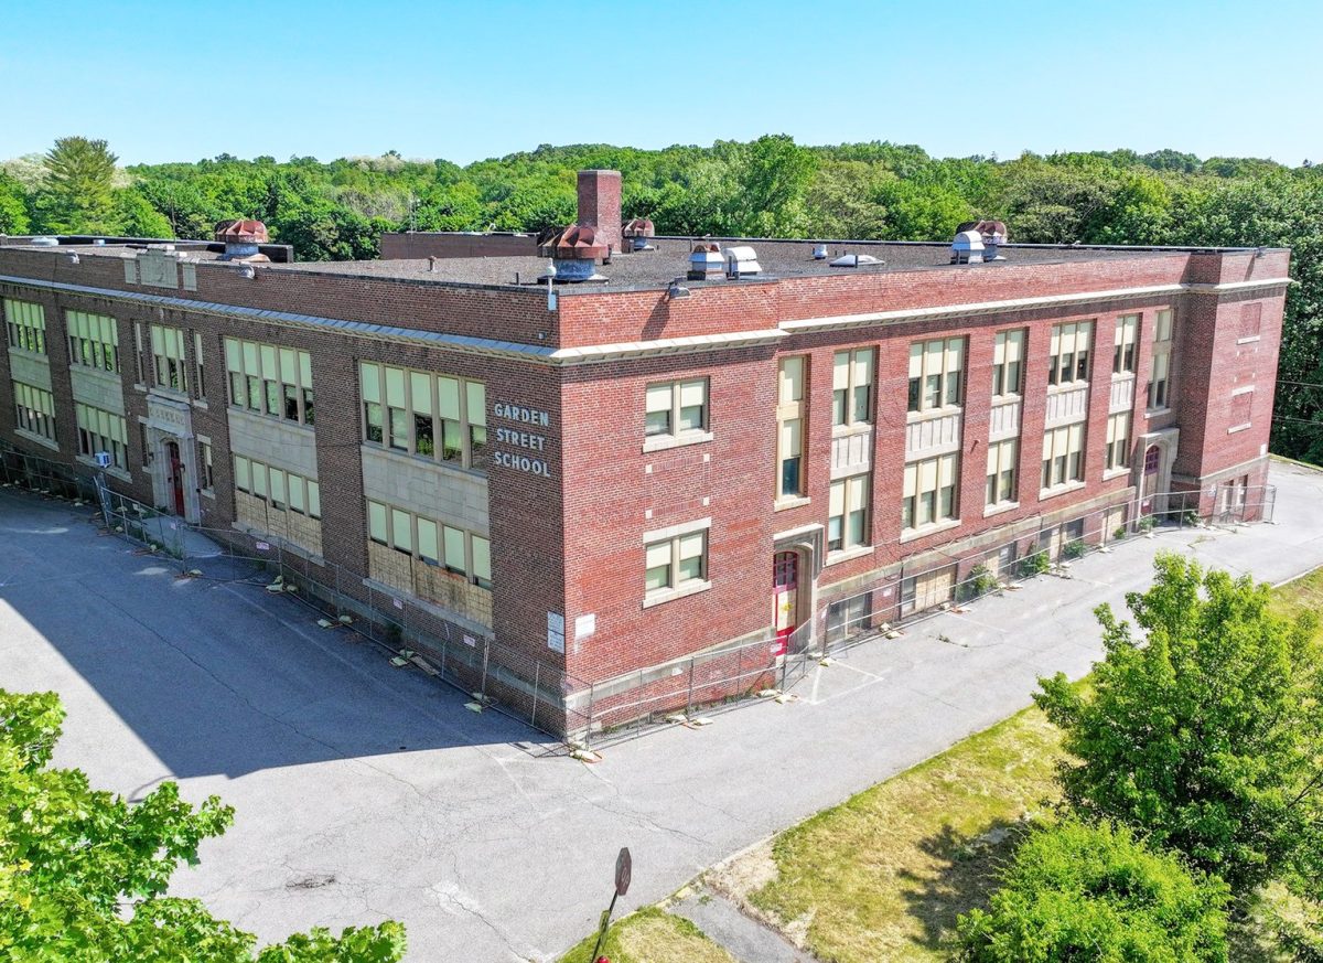
[[[1057,798],[1060,758],[1060,730],[1027,709],[782,833],[777,877],[732,896],[823,960],[941,959],[1025,820]],[[738,874],[714,882],[738,890]]]

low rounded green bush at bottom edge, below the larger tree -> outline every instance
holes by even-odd
[[[1032,832],[988,910],[960,917],[957,959],[1225,960],[1226,884],[1130,829],[1068,820]]]

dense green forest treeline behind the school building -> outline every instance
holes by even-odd
[[[945,241],[987,217],[1012,242],[1291,247],[1273,450],[1323,463],[1323,168],[1308,161],[1172,149],[1003,161],[763,136],[660,151],[544,144],[467,167],[393,151],[119,167],[105,142],[65,138],[0,163],[0,233],[198,238],[255,217],[299,259],[373,258],[385,230],[568,224],[583,168],[620,171],[624,217],[651,217],[659,234]]]

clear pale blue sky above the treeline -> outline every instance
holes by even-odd
[[[1318,0],[15,0],[0,22],[0,157],[70,134],[122,163],[462,164],[790,134],[1323,160]]]

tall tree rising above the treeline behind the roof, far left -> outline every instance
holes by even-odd
[[[105,140],[60,138],[46,152],[37,198],[41,228],[56,234],[114,231],[115,157]]]

